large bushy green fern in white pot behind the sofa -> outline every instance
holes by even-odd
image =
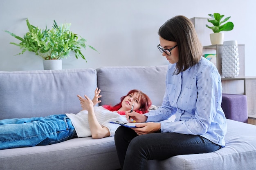
[[[31,25],[28,19],[26,20],[26,22],[29,31],[25,33],[23,38],[9,31],[5,31],[9,33],[11,36],[21,41],[19,44],[14,42],[10,43],[16,46],[20,46],[20,49],[22,51],[17,55],[23,54],[25,51],[31,51],[34,52],[35,55],[40,56],[44,60],[44,64],[46,62],[52,61],[58,61],[62,63],[61,59],[68,57],[70,52],[73,51],[75,53],[76,58],[81,57],[83,60],[86,61],[84,55],[81,52],[82,48],[86,49],[86,40],[84,38],[81,38],[81,36],[70,31],[71,24],[65,23],[58,26],[58,24],[54,20],[54,25],[52,29],[47,29],[47,26],[45,29],[39,29],[38,27]],[[94,47],[90,45],[88,46],[94,51],[97,51],[96,49],[94,49]],[[47,66],[44,65],[44,68],[45,67]]]

